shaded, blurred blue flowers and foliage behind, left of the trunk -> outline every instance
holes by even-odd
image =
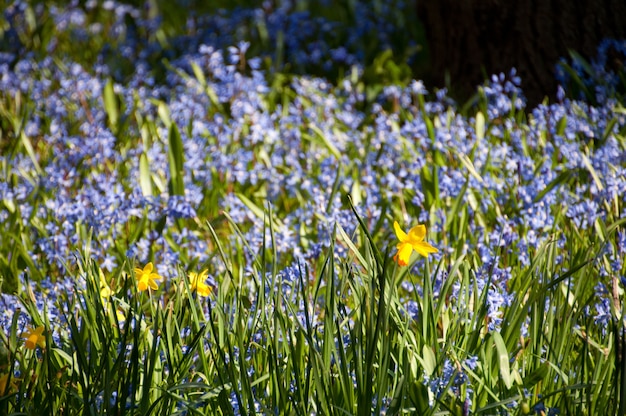
[[[188,51],[189,43],[225,49],[247,41],[248,56],[263,57],[272,72],[331,81],[358,65],[366,82],[406,85],[428,65],[415,4],[400,0],[2,0],[0,5],[0,51],[11,54],[13,64],[25,56],[67,58],[88,71],[105,64],[121,83],[138,56],[147,58],[161,81],[164,63]],[[59,22],[64,10],[82,15],[72,13]],[[73,24],[73,19],[84,21]],[[292,31],[298,31],[300,44],[293,44]],[[298,49],[311,59],[292,56]],[[316,58],[323,53],[333,59]]]

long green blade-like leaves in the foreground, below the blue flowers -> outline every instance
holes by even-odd
[[[397,269],[355,216],[360,228],[352,237],[337,230],[352,260],[335,264],[331,245],[316,273],[300,266],[298,281],[278,272],[273,243],[258,255],[252,287],[233,268],[237,259],[220,248],[226,269],[210,299],[199,298],[183,273],[157,292],[140,293],[130,265],[105,278],[87,251],[74,293],[58,301],[67,310],[66,334],[53,339],[37,295],[22,296],[32,326],[46,328],[46,348],[24,349],[16,315],[0,358],[3,366],[19,365],[23,376],[0,405],[9,413],[63,408],[68,415],[373,414],[382,408],[462,414],[464,393],[433,398],[426,387],[451,360],[471,379],[478,414],[539,398],[568,413],[617,411],[613,335],[584,313],[593,296],[585,276],[600,251],[570,247],[572,264],[555,274],[557,252],[548,242],[533,267],[511,282],[503,331],[488,332],[488,287],[476,291],[475,255],[446,266],[448,279],[435,295],[428,262],[421,276]],[[273,237],[271,222],[268,233]],[[423,285],[422,294],[413,292],[419,319],[402,306],[407,293],[400,283],[407,279]],[[460,285],[458,299],[449,297],[454,285]],[[525,321],[528,335],[520,333]],[[463,364],[471,356],[479,357],[474,369]],[[34,403],[44,407],[35,410]]]

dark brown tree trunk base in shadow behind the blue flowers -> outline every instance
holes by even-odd
[[[555,64],[568,50],[589,59],[602,39],[626,37],[624,0],[417,1],[430,52],[426,81],[449,81],[459,99],[515,67],[535,105],[556,93]]]

